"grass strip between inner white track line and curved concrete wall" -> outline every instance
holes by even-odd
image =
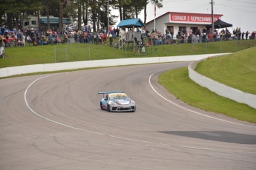
[[[179,100],[208,112],[221,113],[237,120],[256,123],[256,109],[223,98],[188,77],[188,68],[173,69],[159,76],[159,83]]]

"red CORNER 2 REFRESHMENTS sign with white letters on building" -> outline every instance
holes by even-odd
[[[187,21],[187,22],[211,22],[211,16],[196,16],[196,15],[173,15],[171,14],[171,21]],[[217,21],[220,17],[214,16],[214,21]]]

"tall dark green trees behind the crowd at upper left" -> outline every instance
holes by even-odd
[[[59,30],[63,30],[63,18],[77,18],[78,29],[81,24],[92,24],[93,30],[108,27],[108,4],[119,15],[109,16],[109,25],[115,25],[116,19],[138,18],[144,10],[144,23],[147,19],[147,4],[163,7],[162,0],[0,0],[0,24],[10,30],[22,29],[22,21],[29,16],[47,16],[47,28],[50,30],[49,16],[59,17]],[[111,11],[110,11],[111,14]],[[40,24],[39,24],[40,30]]]

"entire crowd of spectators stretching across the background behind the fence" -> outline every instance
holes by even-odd
[[[91,44],[107,44],[112,46],[113,39],[119,37],[120,31],[118,27],[109,27],[107,30],[101,28],[97,32],[93,32],[90,25],[85,25],[81,30],[75,30],[68,25],[64,31],[59,33],[56,28],[50,30],[25,29],[12,31],[7,30],[5,26],[0,30],[0,45],[5,47],[24,47],[26,43],[32,45],[57,44],[65,43],[65,41],[73,41],[73,43],[91,43]],[[198,27],[197,29],[178,30],[174,36],[174,30],[166,28],[165,33],[160,33],[157,30],[149,31],[147,28],[137,28],[137,33],[141,33],[141,41],[144,43],[148,39],[147,44],[177,44],[177,43],[202,43],[211,41],[230,41],[230,40],[247,40],[255,39],[255,31],[249,33],[242,32],[240,28],[234,29],[232,32],[228,28],[222,30],[209,30],[206,27]],[[129,38],[132,39],[133,30],[128,29],[126,32]]]

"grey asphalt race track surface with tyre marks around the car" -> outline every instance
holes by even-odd
[[[256,125],[188,106],[157,83],[189,62],[0,80],[0,169],[256,169]],[[124,90],[136,112],[106,112]]]

